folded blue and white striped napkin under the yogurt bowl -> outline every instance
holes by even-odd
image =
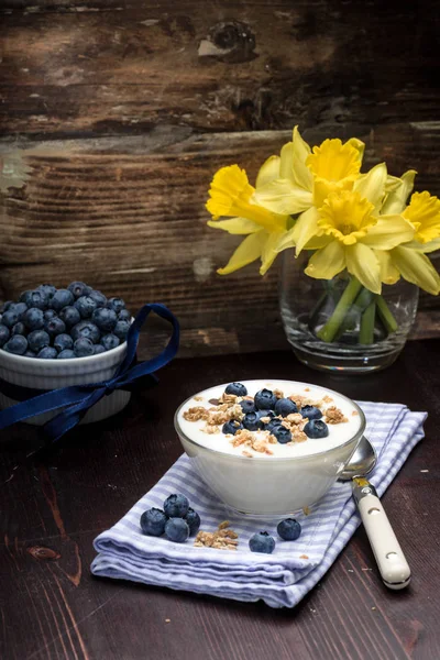
[[[367,420],[365,435],[378,454],[370,480],[382,495],[422,439],[427,415],[399,404],[360,405]],[[215,531],[221,521],[230,520],[239,534],[238,551],[195,548],[193,538],[180,544],[142,535],[141,514],[153,506],[162,508],[170,493],[188,497],[205,531]],[[283,541],[276,535],[278,519],[231,513],[183,455],[114,527],[98,536],[91,572],[237,601],[262,598],[271,607],[293,607],[329,570],[360,524],[351,493],[350,483],[337,483],[310,515],[298,518],[300,538]],[[273,554],[249,550],[249,538],[260,530],[276,539]]]

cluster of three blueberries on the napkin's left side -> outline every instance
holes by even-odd
[[[188,498],[182,494],[169,495],[164,509],[151,508],[141,516],[141,529],[147,536],[165,534],[169,541],[183,543],[200,528],[200,516],[190,508]]]

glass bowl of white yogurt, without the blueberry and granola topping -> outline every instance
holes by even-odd
[[[277,516],[311,507],[334,484],[355,451],[365,429],[361,408],[337,392],[308,383],[266,380],[241,383],[248,396],[253,397],[263,388],[278,394],[280,391],[284,397],[292,396],[294,400],[304,397],[304,405],[307,400],[319,403],[323,419],[332,408],[345,421],[328,424],[326,438],[266,444],[270,453],[255,451],[253,446],[234,447],[237,436],[224,435],[221,425],[220,430],[206,432],[206,419],[188,420],[193,408],[212,409],[215,404],[210,402],[220,399],[227,383],[195,394],[177,409],[175,428],[185,452],[206,484],[235,510]],[[211,426],[209,430],[212,431]]]

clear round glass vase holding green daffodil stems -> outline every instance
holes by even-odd
[[[308,258],[283,253],[280,314],[296,356],[312,369],[354,374],[393,364],[416,318],[418,287],[400,279],[375,296],[346,272],[308,277]]]

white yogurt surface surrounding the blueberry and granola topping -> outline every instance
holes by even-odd
[[[263,388],[272,391],[280,389],[285,397],[301,395],[312,399],[314,402],[320,402],[322,397],[327,395],[328,397],[331,397],[332,400],[326,402],[323,406],[320,406],[322,413],[324,413],[327,408],[336,406],[346,418],[346,421],[340,424],[329,424],[329,435],[327,438],[308,438],[304,442],[293,442],[287,444],[280,444],[277,442],[276,444],[270,446],[272,455],[251,450],[252,455],[255,458],[271,461],[272,459],[306,457],[320,453],[348,442],[360,430],[362,420],[358,408],[349,399],[332,392],[331,389],[318,387],[317,385],[309,385],[308,383],[298,383],[296,381],[240,381],[240,383],[245,385],[248,395],[252,397]],[[223,394],[227,385],[228,383],[223,385],[216,385],[215,387],[199,392],[191,397],[182,406],[178,414],[178,424],[185,436],[194,442],[197,442],[197,444],[228,454],[242,455],[243,447],[233,447],[231,443],[232,436],[226,436],[221,431],[220,433],[207,433],[202,430],[206,426],[206,421],[188,421],[184,418],[184,413],[189,410],[189,408],[194,408],[196,406],[204,406],[205,408],[212,407],[212,404],[209,403],[209,399],[218,399]]]

